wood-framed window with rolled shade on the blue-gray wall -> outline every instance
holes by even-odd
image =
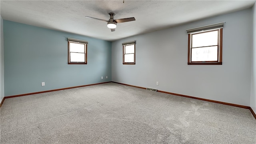
[[[68,64],[87,64],[87,44],[85,40],[68,38]]]

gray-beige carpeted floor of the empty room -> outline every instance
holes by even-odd
[[[1,144],[256,144],[250,110],[106,83],[16,98]]]

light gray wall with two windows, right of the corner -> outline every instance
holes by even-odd
[[[250,106],[251,18],[246,9],[112,42],[112,81]],[[186,29],[223,21],[223,64],[187,65]],[[136,65],[123,65],[122,42],[130,40]]]

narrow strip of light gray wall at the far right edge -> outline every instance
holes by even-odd
[[[256,4],[252,7],[253,36],[252,36],[252,72],[250,107],[256,113]]]

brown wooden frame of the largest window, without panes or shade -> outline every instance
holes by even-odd
[[[192,35],[193,34],[202,34],[204,32],[212,32],[218,30],[218,60],[217,61],[197,61],[192,62],[191,49],[192,49]],[[218,28],[215,30],[207,30],[203,32],[195,32],[188,34],[188,65],[222,65],[222,31],[223,28]],[[202,46],[208,47],[208,46]]]

